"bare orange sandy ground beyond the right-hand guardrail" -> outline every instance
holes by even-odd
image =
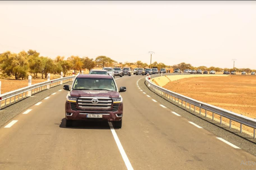
[[[171,81],[164,86],[171,91],[215,105],[237,114],[256,118],[256,76],[192,77]],[[219,116],[215,116],[219,118]],[[229,119],[223,118],[229,122]],[[240,127],[239,123],[232,125]],[[252,132],[253,129],[243,126]]]

